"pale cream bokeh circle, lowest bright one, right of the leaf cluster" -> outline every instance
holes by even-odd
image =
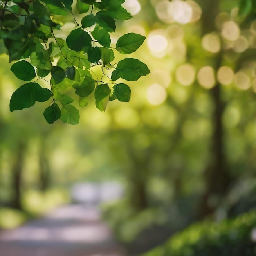
[[[162,104],[167,97],[167,92],[162,85],[158,83],[153,83],[148,87],[147,99],[151,105],[160,105]]]

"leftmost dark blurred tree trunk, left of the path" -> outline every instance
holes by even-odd
[[[16,209],[22,209],[21,204],[21,186],[22,186],[22,167],[24,157],[25,143],[22,141],[18,142],[16,159],[13,164],[13,202],[12,206]]]

